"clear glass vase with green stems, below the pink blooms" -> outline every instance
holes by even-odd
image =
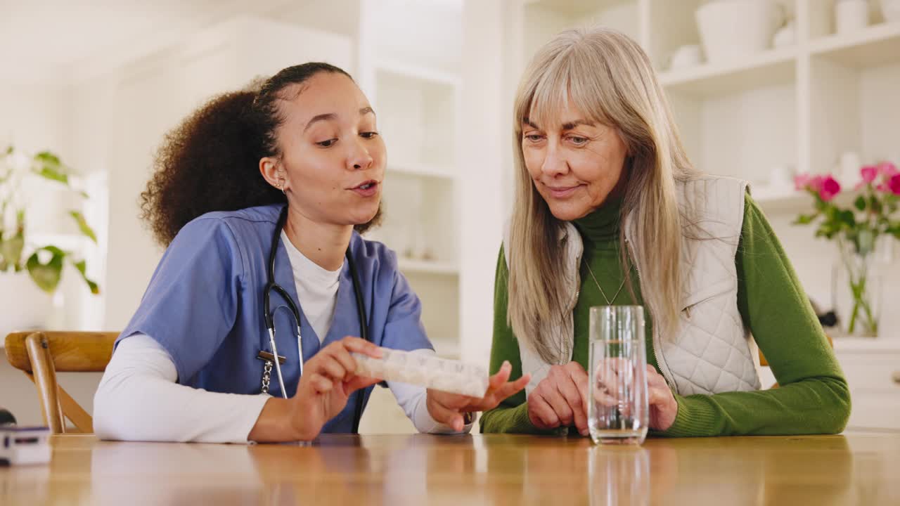
[[[832,302],[844,334],[877,338],[881,319],[882,278],[890,261],[886,240],[837,240],[838,254],[832,273]],[[861,245],[860,245],[861,244]]]

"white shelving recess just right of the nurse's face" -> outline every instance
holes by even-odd
[[[459,357],[461,7],[403,0],[360,5],[356,78],[388,152],[384,218],[368,237],[397,252],[438,354]]]

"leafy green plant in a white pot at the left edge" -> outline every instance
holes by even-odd
[[[27,191],[30,185],[33,186],[32,180],[48,181],[52,185],[60,185],[76,192],[79,198],[86,198],[87,194],[72,187],[70,176],[71,168],[49,151],[29,155],[12,146],[0,151],[0,280],[3,280],[0,282],[0,291],[7,292],[3,297],[7,301],[4,306],[18,306],[4,307],[4,313],[10,317],[23,313],[33,314],[35,311],[30,307],[35,304],[26,302],[27,297],[20,293],[28,290],[27,285],[22,283],[23,278],[30,278],[28,285],[37,286],[43,293],[52,294],[59,285],[66,264],[75,267],[92,294],[100,293],[99,286],[86,275],[83,258],[54,244],[36,244],[28,237],[27,204],[36,199],[36,195]],[[75,221],[80,233],[96,242],[94,230],[87,224],[82,212],[70,210],[67,215]],[[15,293],[8,293],[10,291]],[[40,323],[42,321],[20,324]],[[4,326],[10,325],[14,323],[4,322]]]

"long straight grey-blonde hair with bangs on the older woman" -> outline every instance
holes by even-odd
[[[563,321],[572,310],[567,307],[572,294],[559,276],[565,261],[563,222],[550,212],[528,174],[522,122],[558,124],[570,103],[589,121],[614,128],[626,145],[620,260],[628,266],[628,219],[630,234],[641,245],[632,257],[641,273],[644,301],[662,335],[676,329],[681,309],[682,219],[675,183],[694,174],[650,59],[635,41],[605,29],[572,30],[537,51],[519,84],[513,117],[517,176],[507,245],[507,314],[520,342],[548,363],[560,357],[560,343],[546,342],[548,336],[538,330],[542,322]]]

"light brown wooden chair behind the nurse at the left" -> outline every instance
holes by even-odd
[[[58,385],[56,373],[102,373],[118,336],[116,332],[66,331],[13,332],[6,336],[6,360],[37,386],[40,411],[51,434],[76,432],[66,428],[66,418],[77,431],[94,432],[91,415]]]

